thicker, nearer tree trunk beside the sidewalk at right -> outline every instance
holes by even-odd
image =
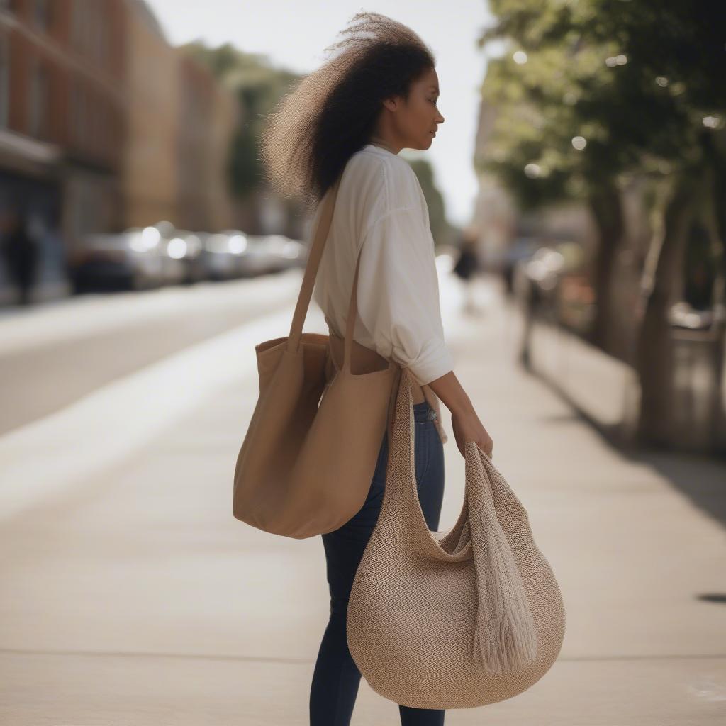
[[[656,446],[672,444],[674,362],[668,311],[674,302],[674,281],[677,274],[682,274],[693,194],[693,181],[685,176],[675,181],[664,212],[660,239],[651,242],[643,270],[644,314],[636,355],[642,393],[637,436],[642,443]]]

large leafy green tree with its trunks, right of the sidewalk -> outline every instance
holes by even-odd
[[[573,196],[590,205],[600,229],[600,340],[611,325],[609,277],[622,232],[618,184],[639,174],[658,188],[661,224],[643,274],[635,364],[643,391],[640,436],[665,443],[673,375],[667,312],[685,234],[696,199],[706,195],[719,210],[726,186],[725,10],[706,0],[550,0],[544,7],[491,0],[490,7],[498,23],[481,43],[510,38],[518,47],[494,66],[494,81],[489,74],[485,81],[484,101],[502,110],[492,168],[525,205]],[[517,63],[517,54],[526,63]],[[579,154],[567,147],[568,137]],[[723,246],[723,213],[715,216]]]

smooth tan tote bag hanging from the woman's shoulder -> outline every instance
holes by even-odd
[[[302,332],[339,184],[321,200],[290,335],[255,346],[259,396],[234,468],[234,517],[296,539],[362,507],[401,371],[353,340],[360,254],[345,339]]]

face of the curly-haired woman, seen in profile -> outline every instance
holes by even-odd
[[[436,106],[438,99],[439,76],[435,69],[429,68],[411,84],[408,102],[404,99],[384,102],[388,110],[393,111],[393,131],[401,148],[426,150],[431,147],[434,132],[444,123]]]

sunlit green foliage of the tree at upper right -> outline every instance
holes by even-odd
[[[496,121],[477,164],[524,208],[589,197],[628,171],[698,173],[726,110],[722,5],[491,0],[489,7],[498,22],[481,45],[505,39],[508,49],[489,62],[482,87]],[[709,116],[715,129],[704,126]]]

